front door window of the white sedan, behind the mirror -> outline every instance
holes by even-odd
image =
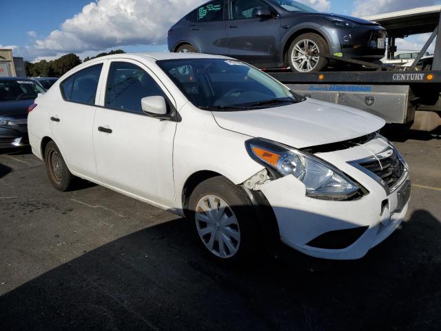
[[[105,107],[143,113],[141,99],[161,95],[163,90],[147,72],[132,63],[112,62],[105,90]]]

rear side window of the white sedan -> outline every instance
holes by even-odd
[[[60,84],[64,99],[93,105],[101,68],[103,63],[85,68],[65,79]]]

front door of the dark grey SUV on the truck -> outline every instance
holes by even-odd
[[[249,63],[277,63],[280,43],[278,17],[256,17],[260,0],[229,0],[227,21],[228,55]]]

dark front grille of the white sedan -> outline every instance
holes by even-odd
[[[389,188],[392,188],[396,183],[398,183],[404,174],[404,165],[398,158],[395,151],[393,151],[389,157],[360,163],[360,165],[366,170],[373,172],[373,174],[380,177],[382,181],[389,186]]]

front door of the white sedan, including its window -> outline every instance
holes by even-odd
[[[99,181],[158,205],[174,201],[172,152],[176,121],[141,110],[141,99],[171,94],[146,66],[130,59],[107,63],[93,125]]]

